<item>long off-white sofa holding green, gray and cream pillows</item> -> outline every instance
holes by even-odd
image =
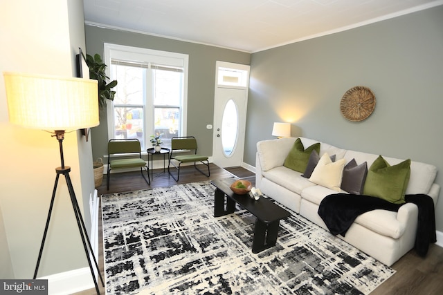
[[[305,148],[318,142],[304,137],[299,138]],[[266,196],[327,229],[325,222],[318,215],[318,207],[325,196],[338,193],[338,191],[314,184],[308,178],[302,177],[303,173],[284,166],[284,161],[295,141],[296,137],[290,137],[257,142],[255,187],[260,188]],[[379,157],[379,155],[348,151],[320,142],[319,155],[324,153],[335,155],[336,161],[344,158],[345,162],[352,159],[355,159],[357,164],[367,162],[368,169]],[[383,158],[392,165],[403,161],[396,158]],[[434,204],[437,204],[440,186],[434,183],[436,174],[435,166],[411,161],[406,194],[423,193],[431,196]],[[417,215],[418,209],[413,203],[403,204],[398,211],[383,209],[368,211],[354,220],[344,237],[341,235],[338,237],[390,266],[413,249]]]

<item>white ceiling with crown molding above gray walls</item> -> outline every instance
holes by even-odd
[[[257,52],[443,0],[84,0],[90,25]]]

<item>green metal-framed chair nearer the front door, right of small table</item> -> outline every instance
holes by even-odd
[[[168,173],[174,178],[175,181],[179,181],[180,167],[182,163],[194,163],[195,169],[201,174],[209,177],[209,160],[206,155],[197,154],[197,140],[194,136],[181,136],[171,138],[171,153],[168,162]],[[201,162],[208,167],[208,173],[201,171],[197,167],[197,162]],[[170,166],[174,166],[177,169],[177,178],[170,171]]]

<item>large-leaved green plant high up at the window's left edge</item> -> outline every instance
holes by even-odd
[[[117,80],[107,83],[107,80],[109,80],[106,75],[107,65],[97,53],[93,57],[87,54],[86,63],[89,67],[89,77],[98,81],[98,105],[100,108],[104,108],[107,102],[106,99],[114,100],[116,92],[112,91],[111,88],[117,86]]]

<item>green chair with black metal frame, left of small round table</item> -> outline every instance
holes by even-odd
[[[116,159],[118,157],[118,159]],[[111,160],[115,159],[115,160]],[[122,159],[123,158],[123,159]],[[148,185],[151,184],[149,167],[145,160],[141,158],[141,145],[137,139],[109,140],[108,142],[108,171],[107,188],[109,190],[109,180],[111,179],[111,169],[140,168],[141,175]],[[147,174],[147,179],[143,175],[143,169]]]

